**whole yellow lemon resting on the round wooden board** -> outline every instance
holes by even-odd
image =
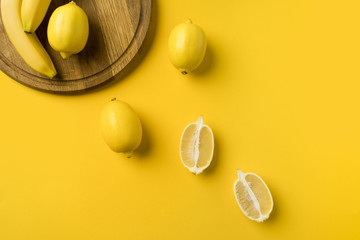
[[[89,37],[89,20],[75,2],[55,9],[47,29],[50,46],[60,52],[63,59],[84,49]]]

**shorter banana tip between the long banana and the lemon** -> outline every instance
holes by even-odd
[[[23,0],[21,21],[25,32],[33,33],[39,27],[49,8],[51,0]]]

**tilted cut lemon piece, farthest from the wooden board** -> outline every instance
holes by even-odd
[[[269,188],[255,173],[240,170],[237,173],[239,178],[234,184],[234,193],[241,210],[251,220],[263,222],[274,205]]]

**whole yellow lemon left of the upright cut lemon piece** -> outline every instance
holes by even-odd
[[[101,112],[101,132],[107,145],[128,158],[140,145],[141,122],[131,106],[112,99]]]

